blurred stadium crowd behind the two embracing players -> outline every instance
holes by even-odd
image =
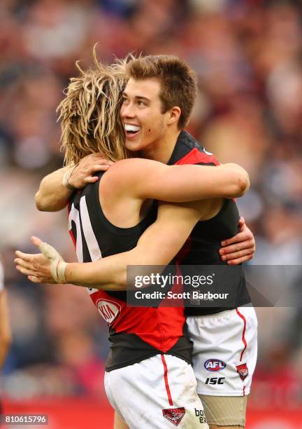
[[[75,60],[89,64],[96,41],[106,62],[129,51],[187,60],[199,74],[189,131],[250,173],[239,204],[257,240],[253,263],[300,265],[301,1],[1,0],[0,13],[0,252],[13,329],[4,411],[48,412],[50,428],[107,429],[105,323],[84,289],[29,284],[12,262],[15,249],[34,250],[33,233],[74,259],[66,213],[38,212],[34,193],[62,166],[55,108]],[[301,308],[257,313],[247,428],[301,428]]]

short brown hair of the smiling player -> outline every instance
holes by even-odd
[[[183,129],[189,121],[197,94],[197,77],[189,65],[173,55],[147,55],[127,63],[127,79],[157,78],[161,82],[163,113],[178,106],[181,110],[178,128]]]

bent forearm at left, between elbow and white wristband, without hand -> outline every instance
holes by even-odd
[[[57,212],[66,207],[71,191],[62,184],[63,175],[69,167],[60,168],[45,176],[36,193],[36,207],[43,212]]]

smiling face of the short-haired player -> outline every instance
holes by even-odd
[[[159,79],[129,79],[124,90],[121,118],[130,151],[150,149],[166,135],[170,112],[162,113]]]

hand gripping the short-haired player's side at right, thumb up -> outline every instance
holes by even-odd
[[[219,250],[220,259],[227,261],[230,265],[238,265],[249,261],[254,257],[256,250],[254,236],[252,231],[245,225],[243,217],[240,217],[239,227],[238,234],[222,241],[222,248]]]

